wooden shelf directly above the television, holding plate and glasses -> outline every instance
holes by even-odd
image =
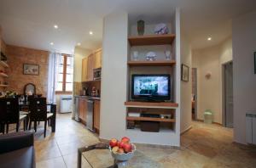
[[[172,66],[176,64],[176,61],[129,61],[127,64],[130,66]]]

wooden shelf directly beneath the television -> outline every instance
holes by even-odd
[[[176,109],[178,104],[171,102],[125,102],[127,107],[144,107],[144,108],[163,108],[163,109]]]

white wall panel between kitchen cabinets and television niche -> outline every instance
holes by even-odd
[[[126,123],[128,14],[108,14],[103,26],[100,137],[121,138]]]

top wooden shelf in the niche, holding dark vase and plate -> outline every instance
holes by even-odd
[[[128,41],[131,46],[167,45],[172,44],[174,38],[174,34],[130,36]]]

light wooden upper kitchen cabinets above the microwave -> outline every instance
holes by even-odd
[[[82,81],[93,81],[93,70],[102,67],[102,48],[83,59]]]

